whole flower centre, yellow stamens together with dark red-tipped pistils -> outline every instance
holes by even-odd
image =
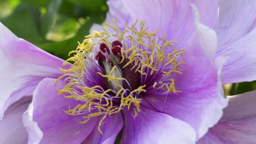
[[[144,21],[140,28],[137,25],[136,21],[120,31],[115,24],[104,24],[111,32],[104,27],[103,32],[93,31],[69,53],[75,55],[64,65],[72,61],[71,68],[61,69],[64,75],[57,82],[64,79],[67,83],[59,94],[80,102],[65,111],[69,115],[85,115],[85,121],[80,123],[100,117],[101,132],[104,119],[122,109],[136,116],[147,92],[162,91],[165,95],[180,92],[175,89],[171,74],[181,74],[178,66],[184,62],[177,58],[184,51],[173,48],[171,43],[176,41],[157,37],[157,31],[147,32]]]

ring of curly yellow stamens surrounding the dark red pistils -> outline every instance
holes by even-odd
[[[125,30],[123,31],[118,29],[116,18],[114,25],[103,24],[110,27],[114,33],[109,33],[103,27],[102,32],[93,31],[91,35],[86,36],[82,43],[78,43],[76,50],[69,53],[69,56],[72,57],[63,63],[63,65],[70,64],[70,69],[61,69],[64,75],[56,80],[56,83],[63,79],[69,82],[62,90],[58,89],[59,94],[66,95],[66,93],[69,93],[65,98],[81,101],[82,103],[72,108],[69,106],[68,110],[64,112],[68,115],[86,113],[86,116],[83,117],[85,120],[80,123],[88,122],[91,117],[102,117],[98,125],[98,130],[101,134],[103,133],[100,127],[107,116],[120,112],[124,108],[133,110],[136,116],[140,112],[140,95],[146,92],[146,85],[139,86],[134,90],[123,88],[123,83],[127,83],[128,80],[122,77],[120,69],[122,70],[131,64],[132,67],[129,67],[129,69],[135,69],[135,72],[141,77],[145,77],[145,75],[146,77],[160,75],[163,81],[154,82],[149,87],[153,86],[155,89],[158,86],[157,84],[160,84],[159,87],[166,93],[180,92],[176,90],[175,80],[171,78],[171,75],[173,72],[181,74],[182,69],[179,68],[179,65],[184,64],[184,61],[177,61],[176,59],[183,56],[184,51],[175,50],[171,43],[177,42],[166,40],[165,35],[163,38],[157,37],[158,29],[155,32],[147,32],[149,27],[145,27],[144,21],[141,21],[139,30],[137,30],[137,27],[135,28],[136,24],[138,24],[138,21],[131,27],[125,25]],[[92,77],[87,77],[86,72],[87,67],[91,67],[93,64],[93,48],[99,47],[101,43],[105,43],[111,48],[112,41],[110,40],[113,38],[123,44],[120,59],[113,61],[115,66],[109,66],[110,68],[107,72],[103,74],[99,71],[97,72],[98,75],[108,80],[109,89],[105,90],[100,85],[89,87],[88,85],[90,84],[87,85],[86,80],[90,80]],[[112,59],[115,58],[113,54],[109,55]],[[72,63],[69,61],[72,61]],[[120,64],[124,62],[123,67],[120,67]],[[165,67],[168,70],[164,69]],[[117,106],[116,103],[113,103],[113,99],[120,101],[120,104]]]

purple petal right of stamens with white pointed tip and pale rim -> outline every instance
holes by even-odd
[[[208,128],[219,121],[222,109],[227,106],[221,85],[221,68],[226,58],[214,59],[216,33],[198,21],[198,11],[194,5],[192,8],[197,37],[192,39],[193,43],[188,43],[184,53],[182,60],[185,64],[180,67],[183,69],[182,75],[173,73],[175,88],[181,92],[161,97],[157,91],[149,92],[145,94],[145,99],[159,111],[192,125],[197,139],[200,139]]]

